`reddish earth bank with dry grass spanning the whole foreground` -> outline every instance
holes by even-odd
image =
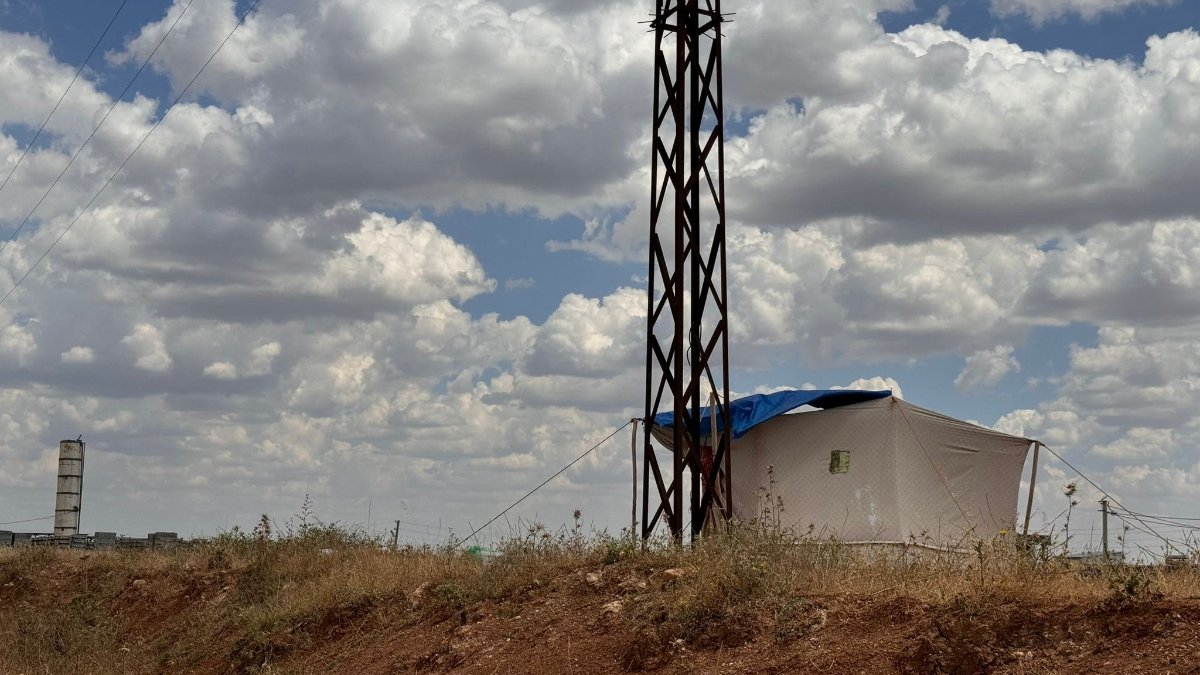
[[[1190,572],[734,549],[0,554],[0,673],[1200,673]]]

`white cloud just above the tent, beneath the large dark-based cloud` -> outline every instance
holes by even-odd
[[[1034,243],[1012,237],[872,245],[856,223],[740,228],[730,240],[733,336],[767,352],[794,345],[818,363],[995,345],[1024,334],[1014,310],[1043,264]]]

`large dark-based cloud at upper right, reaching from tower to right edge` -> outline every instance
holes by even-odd
[[[1195,214],[1198,58],[1192,31],[1152,37],[1140,67],[928,24],[878,34],[730,144],[732,213],[858,216],[881,238]]]

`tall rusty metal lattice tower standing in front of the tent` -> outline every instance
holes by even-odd
[[[692,537],[728,519],[728,306],[725,274],[725,106],[720,0],[656,0],[654,147],[646,346],[642,537],[665,519],[684,532],[684,470]],[[715,393],[715,406],[706,392]],[[715,428],[703,417],[716,418]],[[670,437],[670,473],[650,443]],[[713,414],[715,413],[715,414]],[[702,423],[704,423],[702,425]],[[714,432],[715,429],[715,432]],[[650,483],[654,489],[652,492]],[[653,510],[652,510],[653,509]]]

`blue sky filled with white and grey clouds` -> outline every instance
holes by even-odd
[[[4,175],[119,5],[0,1]],[[641,414],[650,5],[263,0],[185,92],[248,6],[130,2],[0,190],[0,521],[83,435],[85,531],[438,542]],[[733,390],[890,388],[1200,516],[1200,8],[725,10]],[[488,534],[618,531],[628,447]]]

